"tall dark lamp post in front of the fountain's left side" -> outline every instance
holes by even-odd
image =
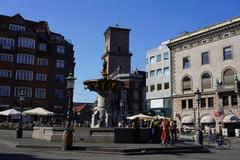
[[[65,131],[63,132],[62,150],[69,150],[72,148],[73,134],[71,128],[71,121],[73,117],[73,89],[75,80],[76,78],[73,77],[72,73],[69,73],[68,77],[66,78],[68,91],[67,124],[65,127]]]

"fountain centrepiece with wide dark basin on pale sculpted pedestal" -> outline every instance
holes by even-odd
[[[107,73],[107,61],[103,61],[102,65],[102,78],[86,80],[83,84],[86,86],[85,89],[98,93],[98,105],[94,109],[92,115],[92,128],[99,127],[111,127],[111,106],[110,106],[110,93],[121,90],[124,83],[118,80],[108,79]]]

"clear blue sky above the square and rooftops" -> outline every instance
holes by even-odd
[[[146,51],[183,31],[240,16],[239,0],[0,0],[0,14],[48,21],[50,29],[72,40],[75,50],[74,101],[92,102],[86,79],[100,78],[103,33],[118,21],[131,28],[132,69],[145,70]]]

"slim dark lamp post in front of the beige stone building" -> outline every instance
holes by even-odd
[[[195,99],[197,101],[197,122],[196,122],[196,142],[200,145],[203,145],[203,134],[202,134],[202,128],[200,126],[200,113],[199,113],[199,104],[201,101],[201,95],[202,93],[197,89],[197,91],[194,93],[195,94]]]

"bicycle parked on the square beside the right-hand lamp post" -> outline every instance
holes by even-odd
[[[229,149],[231,147],[231,141],[226,139],[224,136],[220,135],[211,135],[208,138],[208,146],[212,146],[214,144],[222,147],[223,149]]]

